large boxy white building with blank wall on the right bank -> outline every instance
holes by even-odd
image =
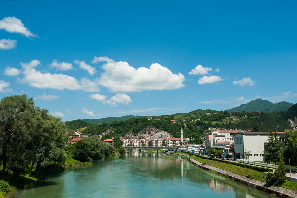
[[[264,151],[270,133],[238,132],[234,135],[234,160],[243,159],[242,153],[250,151],[250,161],[265,161]],[[285,132],[277,132],[280,141],[285,141]]]

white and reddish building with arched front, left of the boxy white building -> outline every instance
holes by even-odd
[[[205,136],[206,150],[210,148],[224,149],[233,143],[234,134],[237,130],[216,130],[211,131]]]

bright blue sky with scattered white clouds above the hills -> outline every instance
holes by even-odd
[[[64,121],[297,103],[297,1],[0,1],[0,97]]]

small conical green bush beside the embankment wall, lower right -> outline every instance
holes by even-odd
[[[265,179],[271,184],[285,182],[287,179],[285,162],[280,160],[279,166],[275,169],[274,173],[268,172]]]

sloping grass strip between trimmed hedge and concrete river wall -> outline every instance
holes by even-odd
[[[181,153],[185,155],[189,155],[189,153],[184,152],[176,152]],[[235,164],[228,164],[226,161],[217,161],[213,158],[207,159],[207,157],[200,157],[200,155],[191,155],[191,158],[195,159],[196,161],[199,161],[200,163],[206,163],[209,166],[213,166],[219,169],[223,169],[229,172],[236,173],[238,175],[245,176],[247,178],[252,178],[258,181],[266,182],[265,178],[263,177],[263,172],[252,169],[250,166],[243,167],[241,164],[235,165]],[[297,191],[297,183],[291,182],[291,181],[285,181],[283,183],[277,184],[279,187],[291,189]]]

